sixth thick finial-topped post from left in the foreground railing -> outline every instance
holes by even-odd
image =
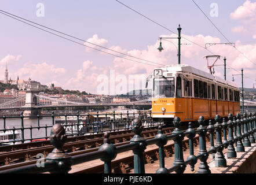
[[[235,143],[235,139],[233,137],[233,121],[232,121],[232,114],[228,114],[228,152],[226,153],[226,156],[228,158],[233,158],[236,157],[236,150],[235,147],[233,146]]]

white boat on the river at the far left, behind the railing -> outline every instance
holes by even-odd
[[[14,138],[13,138],[14,135]],[[0,146],[4,146],[4,145],[14,145],[14,141],[15,142],[19,142],[21,141],[20,138],[20,132],[14,131],[6,131],[3,133],[0,133]]]

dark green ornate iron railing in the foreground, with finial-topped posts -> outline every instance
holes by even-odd
[[[207,164],[207,158],[209,154],[214,155],[215,166],[226,166],[226,159],[222,150],[228,148],[227,158],[236,157],[237,152],[244,151],[244,147],[250,147],[251,143],[255,143],[256,138],[256,114],[254,113],[242,113],[236,114],[236,117],[230,113],[228,115],[228,122],[225,118],[222,120],[217,114],[214,118],[215,124],[212,123],[213,120],[209,121],[209,125],[204,124],[205,120],[203,116],[199,116],[198,123],[199,127],[197,129],[191,128],[191,123],[189,123],[189,128],[183,132],[180,129],[181,121],[179,117],[174,118],[174,131],[171,135],[166,136],[162,132],[162,125],[159,125],[158,134],[153,139],[144,139],[141,135],[142,132],[142,121],[139,118],[133,120],[133,132],[134,136],[130,140],[129,144],[122,146],[114,146],[109,140],[109,133],[104,134],[103,145],[99,147],[97,151],[92,151],[90,153],[79,154],[77,156],[71,156],[65,153],[63,150],[63,145],[67,135],[65,134],[65,129],[61,124],[54,124],[52,127],[52,134],[50,136],[50,141],[52,142],[54,149],[50,153],[43,163],[43,167],[38,164],[30,164],[27,166],[20,166],[13,169],[6,169],[0,171],[0,173],[68,173],[71,166],[79,164],[81,162],[87,162],[100,158],[104,161],[104,172],[111,173],[111,161],[117,156],[118,153],[123,151],[133,150],[134,154],[134,173],[145,173],[144,165],[144,151],[147,145],[156,144],[159,147],[159,169],[156,173],[184,173],[186,165],[191,166],[191,171],[194,171],[196,162],[200,160],[200,165],[198,173],[211,173],[209,166]],[[228,138],[227,138],[228,129]],[[224,141],[222,142],[222,131],[224,136]],[[209,150],[206,149],[206,134],[210,134],[211,147]],[[194,154],[193,149],[193,138],[195,134],[199,135],[199,153],[197,156]],[[214,137],[216,135],[216,143],[214,145]],[[189,152],[190,155],[184,161],[183,150],[182,150],[182,140],[184,137],[189,139]],[[167,140],[174,140],[174,163],[170,168],[166,168],[164,165],[164,148]],[[236,150],[234,147],[236,144]],[[1,168],[0,168],[1,170]]]

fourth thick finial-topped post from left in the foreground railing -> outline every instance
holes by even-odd
[[[199,155],[203,155],[200,157],[200,165],[198,167],[198,173],[211,173],[209,166],[207,164],[207,158],[209,157],[209,154],[206,150],[206,133],[207,129],[204,127],[204,117],[199,116],[198,118],[199,127],[196,131],[198,131],[199,134]]]

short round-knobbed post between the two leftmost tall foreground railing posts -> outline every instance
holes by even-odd
[[[104,134],[104,140],[103,145],[101,145],[98,149],[98,151],[104,150],[106,153],[103,158],[100,158],[101,161],[104,161],[104,173],[111,173],[112,167],[111,167],[111,161],[116,158],[117,152],[115,145],[110,143],[109,139],[109,132],[105,132]]]

